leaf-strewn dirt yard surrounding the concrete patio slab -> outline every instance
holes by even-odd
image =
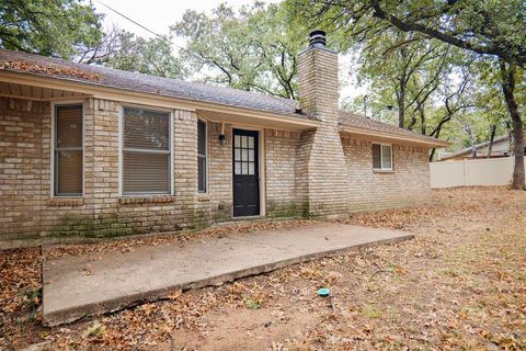
[[[297,264],[219,287],[57,328],[41,325],[39,249],[0,257],[0,349],[485,350],[526,349],[526,192],[433,191],[428,206],[352,215],[346,223],[409,230],[411,241]],[[240,225],[228,230],[308,225]],[[185,237],[185,239],[187,239]],[[55,249],[46,256],[133,250],[173,237]],[[317,296],[321,286],[332,297]]]

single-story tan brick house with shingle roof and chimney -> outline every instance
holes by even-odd
[[[0,237],[114,236],[422,203],[447,143],[339,111],[338,55],[301,103],[0,50]]]

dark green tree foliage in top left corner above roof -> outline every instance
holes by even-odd
[[[78,0],[1,0],[0,46],[72,59],[103,36],[102,15]]]

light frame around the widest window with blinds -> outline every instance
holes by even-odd
[[[149,193],[149,192],[141,192],[141,193],[124,193],[123,191],[123,174],[124,174],[124,110],[125,109],[137,109],[137,110],[147,110],[152,112],[163,112],[168,113],[169,115],[169,168],[170,168],[170,181],[169,181],[169,192],[168,193]],[[156,106],[145,106],[145,105],[137,105],[137,104],[126,104],[121,105],[118,111],[118,194],[122,197],[137,197],[137,196],[171,196],[174,194],[174,183],[175,177],[173,174],[174,171],[174,152],[173,152],[173,118],[174,113],[173,110],[156,107]],[[129,150],[129,149],[128,149]],[[141,149],[141,151],[145,151]],[[148,151],[147,151],[148,152]],[[161,152],[159,152],[161,154]]]

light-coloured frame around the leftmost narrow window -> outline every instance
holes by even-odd
[[[58,195],[55,194],[55,182],[56,182],[56,166],[55,166],[55,144],[56,144],[56,123],[57,123],[57,106],[71,106],[71,105],[80,105],[82,107],[82,193],[80,194],[64,194],[64,195]],[[84,117],[84,101],[82,100],[71,100],[71,101],[60,101],[60,102],[52,102],[52,135],[50,135],[50,196],[52,197],[59,197],[59,199],[65,199],[65,197],[82,197],[84,196],[84,179],[85,179],[85,152],[84,152],[84,138],[85,138],[85,117]]]

